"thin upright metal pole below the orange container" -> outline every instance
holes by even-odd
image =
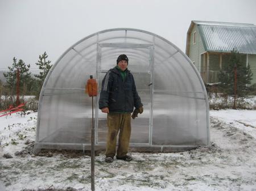
[[[91,149],[90,149],[90,186],[94,191],[94,120],[93,120],[93,96],[92,96],[92,135],[91,135]]]

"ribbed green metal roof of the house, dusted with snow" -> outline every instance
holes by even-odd
[[[230,52],[256,54],[256,26],[254,24],[202,22],[197,24],[207,52]]]

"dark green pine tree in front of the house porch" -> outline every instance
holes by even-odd
[[[247,85],[251,84],[253,73],[250,65],[246,67],[245,63],[241,63],[241,54],[236,50],[232,50],[228,65],[224,65],[223,70],[220,71],[218,79],[220,86],[228,95],[234,94],[234,67],[237,67],[237,95],[245,96]]]

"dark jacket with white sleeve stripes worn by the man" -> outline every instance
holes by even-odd
[[[99,108],[109,108],[110,113],[131,113],[142,106],[134,83],[133,74],[127,70],[123,81],[116,67],[110,69],[102,80]]]

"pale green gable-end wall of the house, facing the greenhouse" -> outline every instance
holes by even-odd
[[[193,44],[193,33],[196,31],[196,44]],[[189,58],[195,62],[196,69],[200,72],[200,54],[205,52],[204,45],[199,34],[199,29],[195,25],[190,33]]]

